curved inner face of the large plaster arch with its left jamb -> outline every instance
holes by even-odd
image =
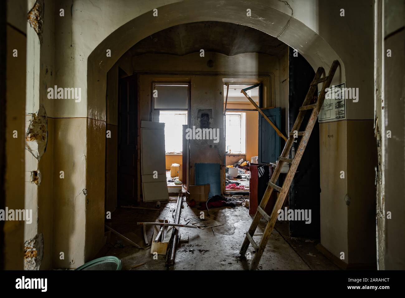
[[[278,38],[294,49],[316,69],[323,66],[328,71],[333,60],[339,60],[340,72],[335,75],[336,81],[344,81],[343,62],[335,51],[321,36],[308,26],[293,17],[292,11],[283,3],[271,2],[269,4],[249,4],[245,6],[242,1],[222,1],[220,5],[215,1],[207,1],[201,7],[199,1],[188,1],[168,4],[157,7],[158,17],[153,16],[152,9],[139,17],[123,24],[106,39],[104,39],[90,54],[87,60],[87,113],[89,124],[87,127],[87,150],[92,152],[92,157],[87,159],[86,185],[87,189],[98,194],[100,201],[93,208],[89,207],[86,216],[90,216],[88,225],[100,231],[102,238],[102,224],[104,222],[101,210],[104,205],[104,177],[105,148],[104,142],[96,140],[105,138],[105,126],[90,124],[90,119],[103,121],[106,118],[105,92],[107,86],[107,71],[132,45],[162,29],[171,26],[195,21],[222,21],[242,24],[253,27]],[[247,9],[252,11],[252,16],[247,16]],[[111,57],[106,56],[106,51],[111,50]],[[94,169],[99,169],[95,171]],[[90,232],[90,229],[86,229]],[[89,235],[90,236],[90,235]],[[97,247],[97,235],[92,233],[90,247]],[[86,232],[87,239],[87,232]]]

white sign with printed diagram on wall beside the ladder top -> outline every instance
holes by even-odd
[[[345,83],[342,83],[337,86],[332,86],[328,92],[326,92],[325,101],[319,111],[319,122],[346,119],[346,98],[344,90]],[[319,94],[320,92],[318,92],[318,96]]]

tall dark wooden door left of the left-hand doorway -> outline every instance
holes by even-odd
[[[119,79],[118,85],[118,206],[138,199],[138,88],[137,76]]]

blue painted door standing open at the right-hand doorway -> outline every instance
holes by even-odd
[[[281,109],[264,109],[263,113],[269,117],[281,131]],[[269,122],[259,113],[259,163],[275,163],[281,154],[280,137]]]

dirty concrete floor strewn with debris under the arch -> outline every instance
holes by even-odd
[[[155,221],[156,219],[169,219],[173,223],[172,211],[175,209],[176,197],[171,197],[172,203],[162,202],[160,210],[118,208],[112,214],[112,227],[121,234],[134,232],[143,238],[142,226],[137,225],[138,221]],[[156,208],[154,203],[142,204],[143,207]],[[166,206],[166,207],[164,207]],[[180,223],[185,224],[185,219],[199,216],[200,210],[190,208],[183,202]],[[138,249],[125,241],[124,247],[114,247],[117,239],[111,234],[111,241],[107,243],[100,253],[102,255],[113,255],[119,257],[123,263],[123,270],[131,270],[131,267],[146,263],[143,266],[132,270],[245,270],[249,268],[251,260],[241,258],[239,249],[249,229],[252,217],[249,210],[243,206],[237,208],[223,207],[213,208],[205,211],[205,217],[215,219],[223,223],[213,229],[189,229],[179,228],[179,233],[188,235],[188,243],[179,243],[177,247],[175,265],[165,267],[165,256],[158,255],[153,259],[150,248]],[[189,223],[190,224],[190,223]],[[262,234],[265,221],[261,220],[255,234]],[[260,260],[258,270],[311,270],[311,269],[337,269],[328,259],[316,250],[316,241],[296,240],[291,243],[288,236],[281,235],[276,229],[273,230],[270,240]],[[282,226],[281,226],[282,227]],[[285,227],[284,227],[285,229]],[[284,237],[284,238],[283,238]],[[256,242],[261,236],[254,236]],[[290,240],[290,243],[286,240]],[[312,240],[311,240],[312,241]],[[301,244],[304,244],[302,248]],[[295,246],[294,246],[295,245]],[[301,250],[301,251],[300,251]],[[247,250],[254,256],[254,249],[251,245]],[[301,256],[300,256],[301,255]],[[100,256],[100,255],[99,255]]]

